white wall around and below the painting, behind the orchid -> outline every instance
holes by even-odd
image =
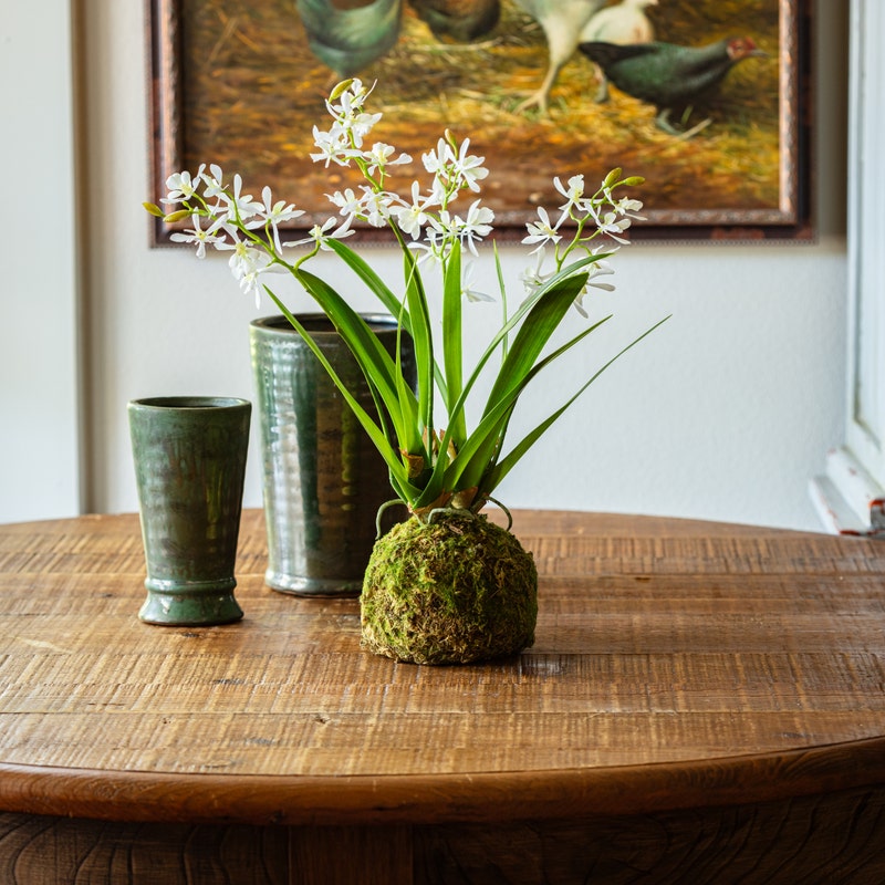
[[[148,192],[144,4],[83,2],[86,507],[134,510],[126,402],[174,393],[251,396],[248,322],[273,311],[256,310],[239,293],[223,260],[148,249],[140,202],[159,195]],[[500,489],[509,506],[819,528],[805,489],[826,448],[842,438],[844,398],[847,38],[841,0],[819,0],[816,22],[820,242],[623,251],[616,321],[600,348],[591,348],[586,368],[659,316],[674,317],[603,376],[525,459]],[[395,280],[396,257],[375,254]],[[516,278],[522,253],[507,249],[504,261]],[[486,263],[482,275],[493,289],[491,273]],[[31,288],[44,290],[39,275]],[[291,304],[308,306],[294,292]],[[488,311],[477,309],[478,331]],[[563,366],[542,398],[572,386],[575,372]],[[27,442],[30,431],[15,436]],[[260,504],[256,455],[248,506]]]

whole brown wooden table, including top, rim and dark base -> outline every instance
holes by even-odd
[[[516,514],[532,649],[360,650],[263,585],[152,627],[137,517],[0,528],[0,882],[885,882],[885,544]]]

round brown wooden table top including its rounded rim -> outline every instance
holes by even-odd
[[[0,527],[0,810],[441,822],[759,802],[885,782],[885,544],[517,512],[534,646],[466,667],[360,649],[356,600],[263,583],[242,622],[142,624],[135,514]]]

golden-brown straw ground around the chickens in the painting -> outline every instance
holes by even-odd
[[[583,173],[594,180],[613,165],[646,177],[650,217],[778,208],[778,0],[658,0],[646,9],[657,40],[701,46],[747,35],[767,53],[737,64],[693,111],[689,126],[710,123],[690,138],[660,129],[654,106],[614,86],[610,100],[597,103],[597,71],[580,51],[560,71],[546,113],[520,110],[548,66],[539,23],[514,0],[502,0],[490,30],[458,42],[436,35],[413,2],[403,3],[397,39],[360,71],[364,81],[377,81],[375,105],[385,113],[373,137],[415,159],[398,171],[399,180],[419,177],[420,154],[448,127],[487,157],[485,200],[504,226],[521,226],[538,204],[555,200],[553,176]],[[310,160],[311,133],[341,71],[311,51],[294,0],[189,0],[181,7],[184,165],[237,169],[251,188],[268,184],[279,198],[308,209],[301,221],[324,218],[323,195],[347,183],[340,169]]]

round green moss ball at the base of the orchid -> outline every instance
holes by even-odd
[[[531,553],[485,517],[414,517],[375,544],[361,596],[363,647],[415,664],[467,664],[534,642]]]

